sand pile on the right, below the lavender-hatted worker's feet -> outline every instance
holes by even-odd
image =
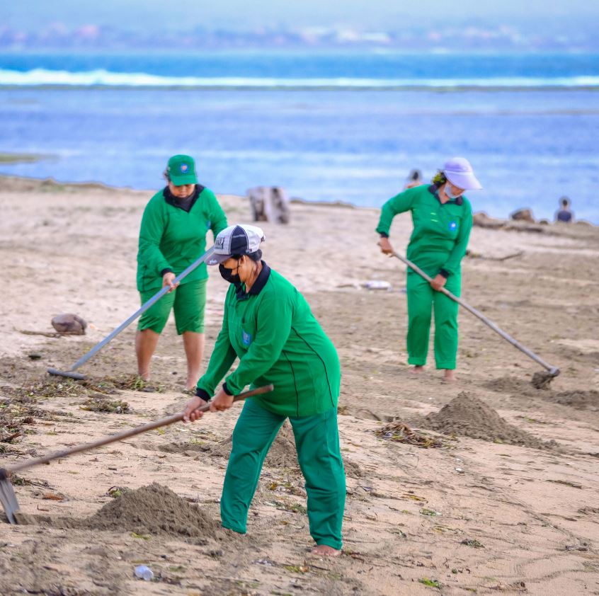
[[[544,449],[555,442],[543,442],[530,433],[515,428],[484,401],[462,392],[437,413],[429,414],[421,423],[423,428],[443,432],[445,435],[464,435],[485,441],[510,443]]]

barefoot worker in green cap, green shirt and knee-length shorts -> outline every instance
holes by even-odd
[[[150,360],[173,310],[187,358],[186,389],[193,391],[204,354],[206,265],[202,263],[176,285],[173,280],[205,253],[207,231],[217,236],[227,227],[227,217],[212,190],[198,183],[192,157],[173,155],[164,177],[166,187],[150,199],[142,217],[137,290],[142,304],[161,287],[169,286],[171,290],[139,319],[135,336],[137,372],[144,381],[149,380]]]

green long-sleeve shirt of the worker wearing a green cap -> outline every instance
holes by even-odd
[[[167,200],[165,190],[159,190],[149,200],[142,217],[137,251],[139,292],[160,290],[165,270],[179,275],[205,253],[207,231],[211,229],[216,237],[227,227],[227,217],[212,190],[198,187],[199,195],[189,211]],[[202,263],[181,283],[207,277],[206,265]]]

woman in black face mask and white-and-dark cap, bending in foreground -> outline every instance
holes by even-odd
[[[223,411],[246,385],[272,383],[274,391],[246,400],[235,425],[220,503],[222,525],[246,533],[264,458],[289,418],[306,481],[314,552],[336,556],[346,498],[337,429],[339,360],[302,294],[261,260],[262,240],[262,230],[247,225],[230,226],[215,240],[207,263],[219,265],[231,286],[222,330],[185,419],[200,418],[197,408],[215,391],[210,410]],[[227,374],[236,358],[239,365]]]

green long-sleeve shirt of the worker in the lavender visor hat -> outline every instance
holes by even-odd
[[[407,257],[430,277],[441,270],[460,273],[460,265],[472,229],[472,207],[466,197],[442,203],[434,185],[404,190],[382,207],[377,232],[389,236],[393,218],[411,211],[413,232]]]

